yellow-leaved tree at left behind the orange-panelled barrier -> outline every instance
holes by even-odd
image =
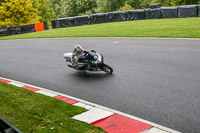
[[[39,22],[32,0],[1,0],[0,27],[28,25]]]

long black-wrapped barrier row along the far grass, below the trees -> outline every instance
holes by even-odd
[[[132,21],[160,18],[200,17],[200,5],[161,7],[159,3],[150,8],[129,11],[115,11],[85,16],[67,17],[51,21],[52,28],[63,28],[89,24]]]

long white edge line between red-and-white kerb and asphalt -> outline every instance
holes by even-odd
[[[69,96],[69,95],[66,95],[66,94],[62,94],[62,93],[59,93],[59,92],[55,92],[55,91],[52,91],[52,90],[48,90],[48,89],[45,89],[45,88],[42,88],[42,87],[38,87],[38,86],[26,84],[26,83],[19,82],[19,81],[16,81],[16,80],[12,80],[12,79],[8,79],[8,78],[3,78],[3,77],[0,77],[0,78],[1,78],[1,79],[5,79],[5,80],[9,80],[9,81],[12,81],[12,82],[16,82],[16,83],[19,83],[19,84],[24,84],[24,85],[26,85],[26,86],[30,86],[30,87],[33,87],[33,88],[36,88],[36,89],[40,89],[40,90],[43,90],[43,91],[47,91],[47,92],[49,92],[49,93],[53,93],[53,94],[57,94],[57,95],[60,95],[60,96],[64,96],[64,97],[70,98],[70,99],[75,100],[75,101],[78,101],[78,102],[83,102],[83,103],[85,103],[85,104],[88,104],[88,105],[91,105],[91,106],[95,106],[95,107],[98,107],[98,108],[100,108],[100,109],[104,109],[104,110],[113,112],[113,113],[115,113],[115,114],[119,114],[119,115],[126,116],[126,117],[131,118],[131,119],[134,119],[134,120],[141,121],[141,122],[143,122],[143,123],[152,125],[152,126],[154,126],[154,127],[157,127],[157,128],[159,128],[159,129],[164,130],[164,131],[167,131],[167,132],[171,132],[171,133],[181,133],[181,132],[176,131],[176,130],[174,130],[174,129],[170,129],[170,128],[168,128],[168,127],[165,127],[165,126],[162,126],[162,125],[159,125],[159,124],[156,124],[156,123],[153,123],[153,122],[144,120],[144,119],[142,119],[142,118],[138,118],[138,117],[136,117],[136,116],[129,115],[129,114],[126,114],[126,113],[123,113],[123,112],[120,112],[120,111],[117,111],[117,110],[114,110],[114,109],[110,109],[110,108],[108,108],[108,107],[104,107],[104,106],[101,106],[101,105],[98,105],[98,104],[95,104],[95,103],[92,103],[92,102],[88,102],[88,101],[85,101],[85,100],[82,100],[82,99],[79,99],[79,98],[76,98],[76,97],[72,97],[72,96]]]

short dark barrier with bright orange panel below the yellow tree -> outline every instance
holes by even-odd
[[[0,36],[38,32],[38,31],[43,31],[47,29],[48,29],[48,26],[46,22],[25,25],[25,26],[3,27],[3,28],[0,28]]]

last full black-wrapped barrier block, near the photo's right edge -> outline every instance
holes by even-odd
[[[178,17],[197,17],[197,5],[178,6]]]

